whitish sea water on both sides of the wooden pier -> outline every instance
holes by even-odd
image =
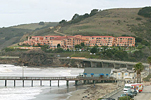
[[[17,77],[64,77],[77,76],[83,73],[81,68],[65,68],[65,67],[23,67],[10,64],[0,64],[0,77],[2,76],[17,76]],[[74,81],[69,82],[69,87],[66,86],[66,81],[31,81],[25,80],[24,87],[21,80],[16,80],[14,87],[13,80],[7,80],[5,87],[4,80],[0,80],[0,100],[66,100],[70,93],[76,90]]]

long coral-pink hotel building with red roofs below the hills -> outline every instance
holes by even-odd
[[[75,45],[84,43],[86,46],[135,46],[134,37],[113,37],[113,36],[31,36],[27,41],[19,43],[28,45],[49,45],[51,49],[57,45],[64,49],[72,49]]]

